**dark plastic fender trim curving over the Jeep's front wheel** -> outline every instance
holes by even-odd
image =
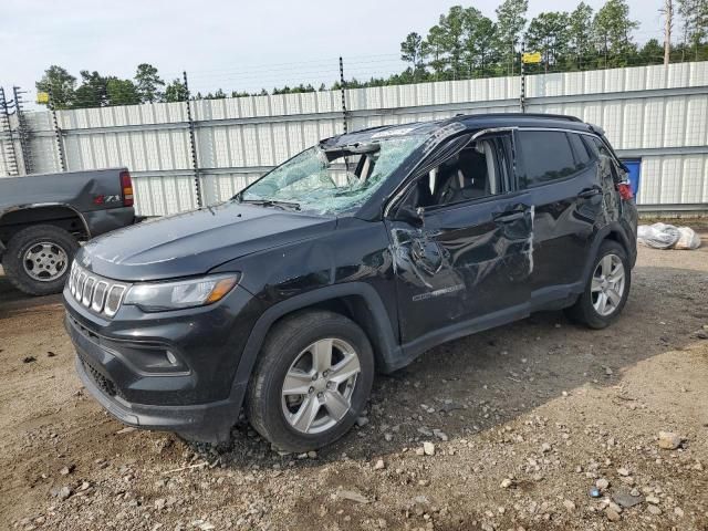
[[[233,378],[233,387],[241,387],[248,384],[263,341],[275,321],[289,313],[311,306],[312,304],[351,295],[361,296],[374,317],[373,323],[376,327],[376,343],[378,344],[384,365],[381,368],[385,372],[391,365],[392,360],[397,357],[400,351],[400,345],[393,333],[394,329],[392,327],[388,312],[386,312],[384,303],[372,285],[364,282],[347,282],[294,295],[266,310],[256,322],[246,343],[246,347],[241,353],[241,360],[239,361]]]

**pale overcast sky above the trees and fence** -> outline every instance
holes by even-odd
[[[585,0],[597,10],[602,0]],[[102,7],[98,4],[103,3]],[[540,11],[577,2],[529,0]],[[662,40],[662,0],[628,0],[641,22],[636,40]],[[450,6],[473,6],[493,17],[498,0],[2,0],[0,85],[29,90],[51,64],[132,77],[147,62],[169,81],[186,70],[192,92],[271,90],[339,76],[368,79],[403,70],[400,41],[425,35]]]

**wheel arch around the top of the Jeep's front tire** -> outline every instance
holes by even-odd
[[[233,386],[247,384],[268,333],[282,319],[306,310],[330,310],[360,325],[374,350],[376,367],[387,371],[400,350],[383,301],[369,284],[350,282],[302,293],[270,306],[258,319],[241,354]]]

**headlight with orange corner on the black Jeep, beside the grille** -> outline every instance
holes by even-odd
[[[176,282],[138,283],[129,289],[123,304],[134,304],[146,312],[164,312],[214,304],[233,289],[239,278],[239,274],[232,273]]]

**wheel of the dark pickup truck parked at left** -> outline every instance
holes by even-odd
[[[59,293],[77,250],[79,242],[65,230],[35,225],[12,237],[2,257],[2,268],[10,282],[24,293]]]

